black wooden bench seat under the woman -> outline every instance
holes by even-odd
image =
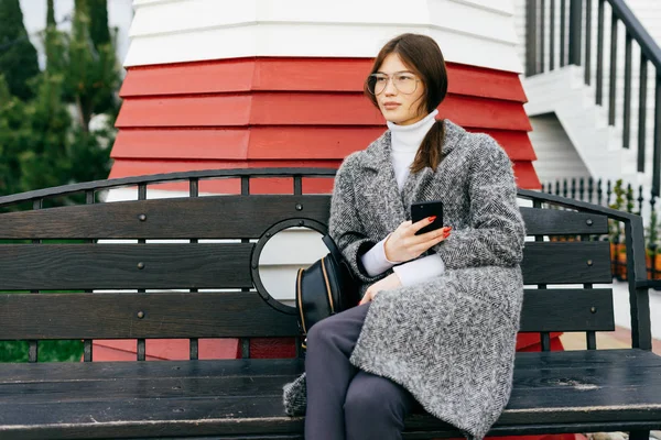
[[[296,359],[0,364],[0,438],[301,438],[302,418],[284,415],[281,395],[302,371]],[[517,353],[512,396],[491,433],[628,430],[659,420],[661,356]],[[422,413],[407,426],[409,439],[459,435]]]

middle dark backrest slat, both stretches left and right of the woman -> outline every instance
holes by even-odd
[[[0,244],[0,290],[252,287],[251,243]],[[607,242],[525,244],[525,284],[609,283]]]

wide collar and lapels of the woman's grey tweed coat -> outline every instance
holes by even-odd
[[[443,155],[447,155],[458,145],[466,131],[447,119],[444,120],[444,129]],[[419,173],[409,175],[400,193],[392,167],[391,151],[391,134],[388,130],[365,150],[362,165],[377,173],[375,180],[380,185],[382,220],[394,230],[402,221],[410,220],[408,207],[411,202],[434,199],[441,188],[431,185],[435,173],[432,168],[425,167]]]

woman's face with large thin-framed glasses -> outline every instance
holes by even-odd
[[[410,125],[426,116],[424,85],[398,54],[388,55],[376,74],[379,76],[375,87],[377,102],[387,121]],[[383,89],[379,92],[380,88]]]

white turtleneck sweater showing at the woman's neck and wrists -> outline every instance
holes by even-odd
[[[392,143],[392,167],[394,168],[394,177],[400,191],[409,177],[411,164],[415,158],[422,140],[436,121],[436,114],[438,114],[438,110],[432,111],[424,119],[411,125],[398,125],[393,122],[388,122]],[[402,286],[410,286],[438,276],[445,271],[443,260],[436,254],[416,258],[404,264],[389,261],[386,257],[386,240],[388,238],[381,240],[361,257],[362,266],[369,276],[377,276],[392,267],[400,278]]]

